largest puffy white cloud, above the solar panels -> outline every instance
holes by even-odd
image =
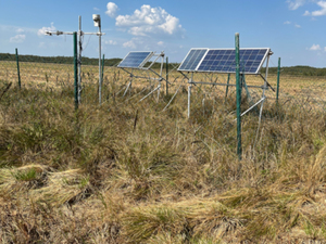
[[[150,34],[172,36],[184,33],[179,20],[160,7],[151,8],[143,4],[140,10],[135,10],[133,15],[118,15],[115,21],[116,26],[127,28],[133,36]]]

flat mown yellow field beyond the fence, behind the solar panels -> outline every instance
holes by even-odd
[[[17,82],[17,69],[15,62],[2,61],[0,62],[0,79],[7,81]],[[39,87],[62,87],[72,86],[74,84],[74,67],[67,64],[50,64],[50,63],[20,63],[21,79],[23,86],[39,86]],[[136,72],[135,75],[140,75],[140,72]],[[142,73],[145,77],[151,76],[150,73]],[[165,69],[163,70],[163,77],[165,77]],[[98,82],[98,66],[83,65],[82,66],[82,80],[83,84],[95,84]],[[106,84],[110,81],[116,81],[117,85],[125,84],[129,80],[129,75],[122,69],[115,67],[104,68],[104,81]],[[195,76],[197,81],[216,81],[221,84],[226,84],[227,75],[205,75],[199,73]],[[177,72],[172,72],[170,74],[170,81],[172,86],[170,87],[171,92],[175,92],[178,86],[181,84],[187,87],[187,79]],[[246,81],[248,86],[263,86],[263,79],[259,76],[248,75],[246,76]],[[230,84],[235,85],[235,76],[231,75]],[[268,82],[273,88],[276,89],[277,75],[268,75]],[[149,81],[146,79],[135,79],[134,86],[143,87],[148,86]],[[154,86],[154,84],[152,84]],[[225,87],[217,86],[214,88],[217,92],[225,94]],[[280,78],[280,95],[284,98],[298,98],[306,99],[306,97],[313,98],[316,101],[326,101],[326,78],[324,76],[283,76]],[[163,82],[163,90],[164,82]],[[201,90],[210,91],[210,86],[201,86]],[[254,93],[261,93],[260,89],[253,89]],[[276,93],[269,89],[267,91],[267,97],[275,99]]]

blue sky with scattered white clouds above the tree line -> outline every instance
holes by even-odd
[[[71,36],[45,30],[96,33],[100,14],[106,59],[129,51],[164,51],[181,62],[190,48],[271,48],[272,66],[326,66],[326,1],[322,0],[0,0],[0,52],[73,55]],[[85,36],[83,55],[98,56],[98,37]]]

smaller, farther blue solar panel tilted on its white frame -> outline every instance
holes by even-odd
[[[129,52],[126,57],[120,62],[117,67],[139,68],[145,65],[152,55],[153,52]]]

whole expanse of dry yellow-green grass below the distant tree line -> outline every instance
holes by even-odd
[[[68,66],[43,66],[48,80],[32,67],[21,90],[8,86],[14,69],[1,68],[1,243],[326,242],[326,116],[302,110],[293,92],[308,78],[281,77],[281,95],[299,100],[267,100],[259,130],[255,112],[243,117],[239,162],[235,97],[225,101],[225,87],[204,108],[210,88],[196,88],[188,119],[186,82],[163,112],[178,73],[168,95],[139,102],[149,81],[135,80],[123,98],[128,76],[108,68],[103,104],[97,72],[85,73],[92,78],[75,111]]]

